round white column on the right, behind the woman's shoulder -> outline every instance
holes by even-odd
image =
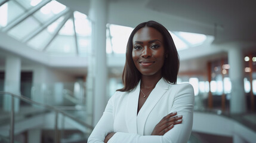
[[[229,77],[232,83],[230,113],[245,113],[246,102],[243,86],[243,52],[240,48],[230,48],[228,51]]]

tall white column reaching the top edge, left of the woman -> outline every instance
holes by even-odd
[[[94,97],[93,97],[93,122],[95,126],[100,120],[106,106],[106,24],[107,24],[107,1],[90,1],[90,18],[92,20],[92,59],[95,61],[92,68],[94,77]],[[91,74],[91,73],[88,73]]]

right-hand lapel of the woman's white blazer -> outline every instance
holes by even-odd
[[[141,107],[137,116],[138,134],[144,135],[144,126],[145,126],[147,117],[149,116],[150,112],[155,107],[155,105],[158,103],[158,101],[161,99],[161,97],[165,94],[165,92],[168,89],[168,86],[169,86],[169,83],[167,83],[165,79],[162,77],[162,79],[159,80],[159,82],[156,84],[156,87],[150,93],[146,102]]]

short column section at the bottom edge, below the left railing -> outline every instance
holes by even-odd
[[[27,142],[41,142],[41,129],[29,129],[27,132]]]

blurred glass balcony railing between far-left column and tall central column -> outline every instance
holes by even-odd
[[[85,82],[38,83],[30,87],[30,98],[53,106],[85,105],[87,100],[85,89]]]

